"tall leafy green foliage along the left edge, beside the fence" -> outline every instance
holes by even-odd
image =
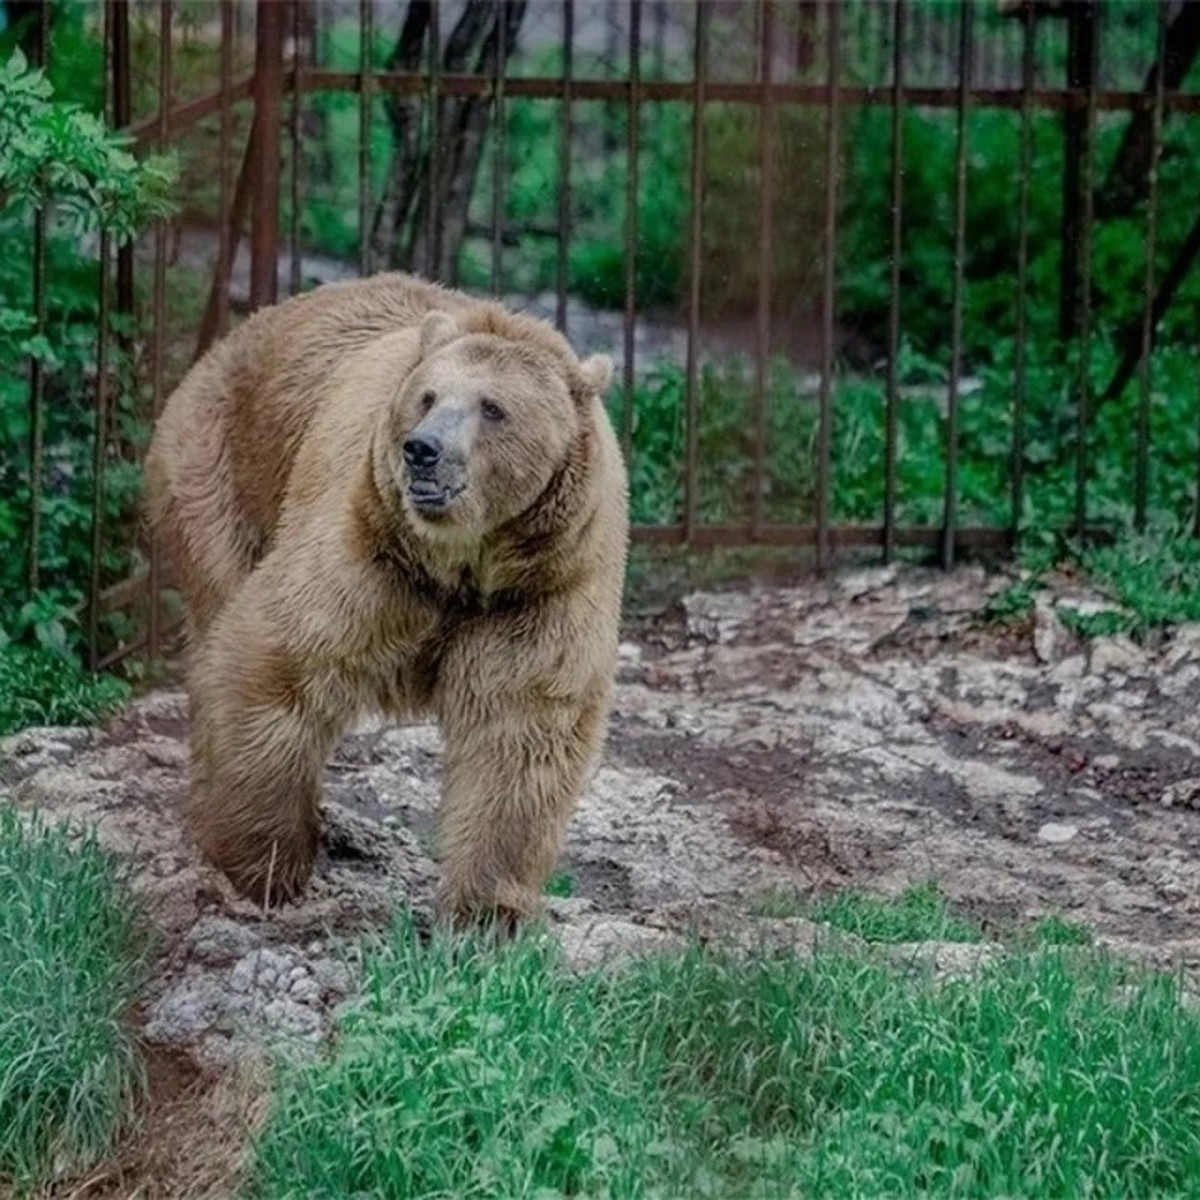
[[[90,61],[94,37],[66,13],[55,25],[62,64]],[[55,55],[55,58],[58,58]],[[98,61],[98,60],[97,60]],[[86,92],[78,80],[71,95]],[[42,652],[22,660],[5,652],[0,712],[4,721],[80,719],[115,695],[110,683],[91,683],[65,659],[79,644],[82,583],[91,563],[95,494],[95,355],[100,320],[98,264],[80,252],[84,235],[106,230],[128,239],[173,208],[175,164],[168,157],[139,161],[130,139],[108,132],[79,103],[56,98],[42,71],[29,68],[19,50],[0,65],[0,540],[28,546],[35,497],[35,430],[29,406],[30,362],[41,365],[44,402],[36,547],[41,588],[28,590],[28,558],[0,559],[0,643],[22,640]],[[44,316],[35,311],[32,212],[44,212],[47,239]],[[114,335],[120,332],[114,320]],[[145,440],[131,364],[110,350],[110,437],[104,448],[101,518],[109,536],[98,564],[102,583],[128,563],[128,548],[114,530],[127,527],[138,494],[136,460]],[[18,714],[26,714],[20,716]],[[71,716],[70,714],[76,714]]]

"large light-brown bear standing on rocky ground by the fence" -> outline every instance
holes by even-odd
[[[187,604],[188,820],[241,893],[305,887],[325,760],[373,709],[440,726],[439,911],[534,908],[616,672],[611,377],[385,274],[260,310],[169,397],[146,487]]]

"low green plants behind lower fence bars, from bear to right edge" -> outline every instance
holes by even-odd
[[[1015,420],[1014,348],[997,341],[992,361],[960,389],[958,512],[964,524],[1010,526],[1012,446]],[[1092,377],[1106,377],[1111,346],[1094,347]],[[1189,349],[1163,347],[1153,359],[1150,406],[1148,511],[1158,524],[1188,520],[1195,503],[1195,360]],[[1079,366],[1038,347],[1025,364],[1022,438],[1024,491],[1020,528],[1030,533],[1069,529],[1076,476]],[[937,526],[947,480],[947,384],[944,372],[905,349],[896,404],[896,516],[901,523]],[[704,364],[697,379],[700,462],[697,511],[702,521],[745,518],[750,511],[755,460],[757,380],[746,359]],[[762,506],[768,521],[804,522],[815,514],[820,409],[815,380],[773,359],[763,380],[764,457]],[[671,362],[650,370],[635,386],[632,414],[632,503],[636,521],[677,521],[683,506],[686,378]],[[1087,436],[1087,514],[1114,533],[1129,521],[1139,397],[1127,389],[1096,408]],[[611,412],[624,419],[624,396]],[[833,383],[832,500],[838,520],[882,520],[887,397],[882,379],[835,377]],[[1058,551],[1063,547],[1058,546]],[[1102,562],[1098,559],[1097,562]],[[1014,600],[1016,598],[1013,598]]]

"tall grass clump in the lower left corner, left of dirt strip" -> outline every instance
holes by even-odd
[[[143,932],[92,838],[0,803],[0,1190],[86,1168],[131,1115]]]

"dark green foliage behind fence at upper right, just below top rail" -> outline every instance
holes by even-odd
[[[900,270],[901,328],[925,354],[943,355],[949,344],[953,295],[954,158],[956,115],[908,109],[904,118],[904,235]],[[1105,114],[1098,121],[1097,161],[1111,162],[1129,121],[1127,114]],[[1061,264],[1063,142],[1061,119],[1042,113],[1031,125],[1032,175],[1028,211],[1027,301],[1036,338],[1054,336],[1057,323]],[[1184,121],[1164,131],[1159,191],[1157,271],[1170,257],[1194,218],[1192,198],[1200,187],[1200,160],[1189,150]],[[976,109],[967,118],[967,210],[964,274],[964,349],[967,361],[986,361],[996,336],[1010,337],[1016,320],[1016,263],[1020,114]],[[892,251],[890,176],[892,114],[865,107],[853,116],[845,139],[846,173],[839,238],[838,304],[841,319],[877,346],[887,343],[888,287]],[[1097,222],[1092,272],[1096,311],[1106,329],[1123,328],[1141,312],[1146,214]],[[1184,284],[1168,313],[1160,336],[1186,343],[1189,313],[1200,299],[1200,283]]]

